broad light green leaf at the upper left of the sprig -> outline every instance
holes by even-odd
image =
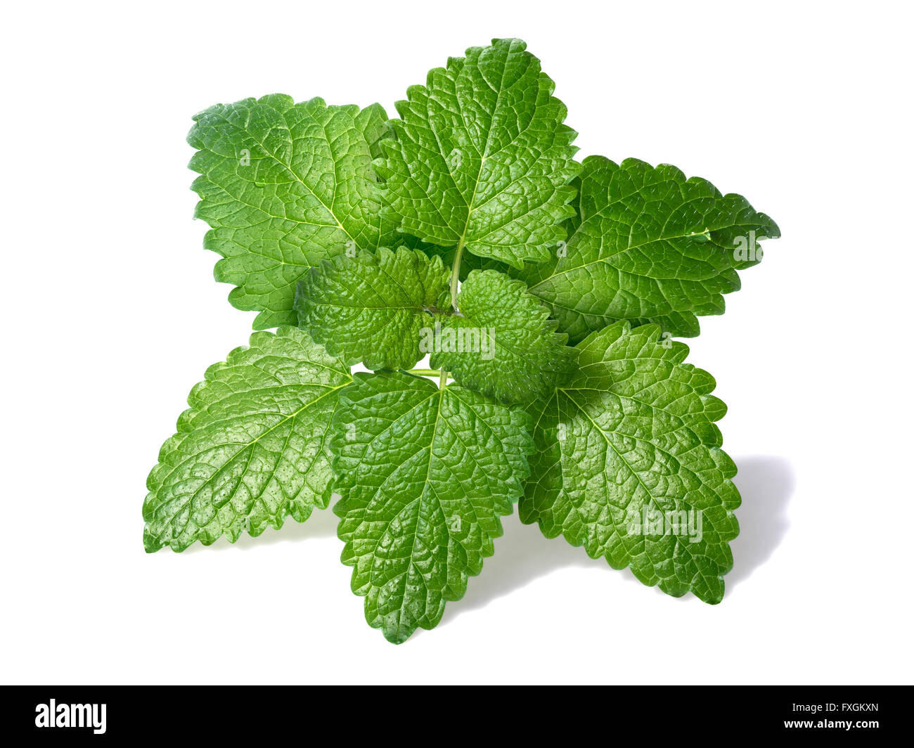
[[[222,255],[216,280],[238,286],[229,302],[260,311],[256,328],[295,324],[292,298],[308,267],[394,238],[371,167],[377,140],[366,140],[379,136],[376,107],[272,94],[194,117],[196,216],[212,227],[204,247]]]

